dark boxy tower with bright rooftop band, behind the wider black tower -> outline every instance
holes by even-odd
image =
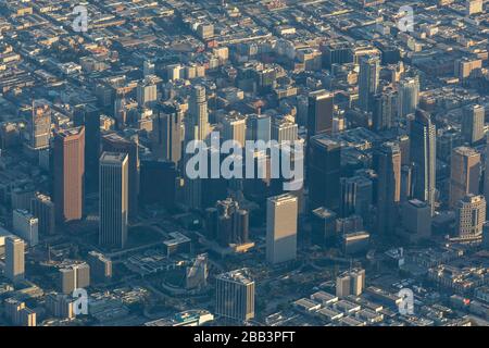
[[[333,132],[334,113],[333,92],[325,89],[309,94],[308,98],[308,137]]]

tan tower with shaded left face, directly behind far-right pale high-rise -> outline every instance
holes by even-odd
[[[479,194],[480,153],[469,147],[452,150],[450,161],[450,208],[468,194]]]

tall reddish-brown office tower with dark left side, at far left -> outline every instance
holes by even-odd
[[[54,136],[53,190],[57,221],[80,220],[84,211],[85,127],[60,130]]]

